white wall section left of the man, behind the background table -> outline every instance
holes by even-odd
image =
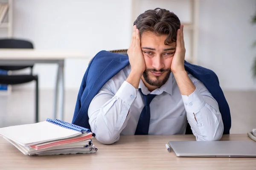
[[[128,47],[130,11],[130,0],[14,0],[13,34],[32,40],[36,49],[77,50],[93,57],[101,50]],[[80,87],[88,62],[65,62],[67,89]],[[56,65],[35,65],[40,88],[54,88],[56,69]]]

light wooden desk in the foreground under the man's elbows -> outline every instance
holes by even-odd
[[[170,140],[195,140],[193,135],[121,136],[119,142],[104,145],[90,154],[26,156],[0,138],[0,169],[175,169],[255,170],[256,158],[177,157],[166,150]],[[224,135],[222,140],[251,140],[246,134]]]

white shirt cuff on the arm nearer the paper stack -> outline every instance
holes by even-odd
[[[119,97],[125,104],[131,106],[137,97],[138,90],[130,83],[124,81],[115,96]]]

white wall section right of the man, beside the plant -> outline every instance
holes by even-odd
[[[225,90],[255,90],[255,0],[201,0],[198,61],[218,75]]]

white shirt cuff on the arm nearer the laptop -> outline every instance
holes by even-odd
[[[197,88],[189,96],[181,96],[187,113],[197,113],[206,104],[204,97],[200,94]]]

